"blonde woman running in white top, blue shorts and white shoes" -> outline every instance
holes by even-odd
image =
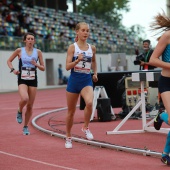
[[[66,59],[66,70],[71,70],[66,89],[68,105],[66,118],[66,148],[72,148],[71,128],[73,126],[73,117],[79,94],[84,98],[86,104],[82,131],[85,133],[87,139],[93,139],[93,135],[90,132],[88,125],[93,107],[92,80],[94,82],[98,81],[96,48],[86,42],[90,33],[89,25],[85,22],[80,22],[76,25],[75,31],[75,43],[69,46]],[[91,69],[94,72],[93,77],[91,77]]]

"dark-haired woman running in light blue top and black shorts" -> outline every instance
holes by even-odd
[[[18,91],[21,97],[17,111],[17,122],[22,123],[22,110],[26,106],[23,134],[29,135],[28,123],[33,112],[33,104],[37,91],[37,68],[45,70],[42,52],[34,48],[35,36],[32,33],[24,35],[25,47],[16,49],[7,60],[11,73],[18,76]],[[18,57],[19,67],[14,69],[12,61]],[[39,64],[37,61],[39,60]]]

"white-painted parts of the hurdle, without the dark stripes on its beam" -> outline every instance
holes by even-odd
[[[136,74],[139,73],[132,73],[132,81],[140,81],[139,79],[136,79]],[[148,75],[147,75],[148,74]],[[148,76],[147,81],[154,81],[153,79],[150,79],[150,74],[154,74],[153,72],[146,73],[146,76]],[[159,131],[156,131],[154,127],[150,127],[151,124],[153,124],[154,119],[146,123],[146,109],[145,109],[145,92],[144,92],[144,81],[140,81],[141,86],[141,99],[136,104],[136,106],[128,113],[128,115],[119,123],[119,125],[113,130],[113,131],[107,131],[106,134],[129,134],[129,133],[143,133],[145,131],[148,132],[159,132],[159,133],[168,133],[170,131],[170,128],[161,128]],[[123,126],[123,124],[129,119],[129,117],[140,107],[142,106],[142,129],[141,130],[124,130],[119,131],[119,129]]]

